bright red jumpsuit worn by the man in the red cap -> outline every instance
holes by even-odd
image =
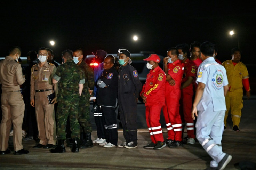
[[[165,72],[158,66],[147,74],[146,83],[142,87],[146,99],[146,121],[153,143],[163,142],[162,127],[159,122],[162,106],[165,104]]]

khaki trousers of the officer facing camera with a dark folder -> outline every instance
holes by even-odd
[[[53,92],[53,91],[52,91]],[[35,93],[35,115],[37,119],[40,144],[56,144],[56,124],[54,105],[49,104],[50,91]]]

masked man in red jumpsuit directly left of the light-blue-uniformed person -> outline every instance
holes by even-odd
[[[180,44],[176,46],[176,48],[179,51],[178,58],[179,60],[181,60],[181,63],[184,67],[184,74],[181,81],[180,114],[182,118],[182,123],[186,122],[187,126],[187,144],[194,144],[194,120],[191,117],[191,112],[193,98],[192,81],[195,78],[195,64],[191,60],[189,60],[189,58],[187,58],[189,54],[189,46],[187,44]]]

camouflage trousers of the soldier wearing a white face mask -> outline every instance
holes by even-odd
[[[79,124],[80,132],[91,133],[91,119],[90,119],[90,96],[83,91],[79,100]]]

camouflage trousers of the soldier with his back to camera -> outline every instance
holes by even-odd
[[[57,119],[57,139],[66,139],[66,126],[67,118],[69,116],[71,138],[80,138],[79,129],[79,113],[78,113],[78,102],[71,101],[58,101],[58,108],[56,113]]]

